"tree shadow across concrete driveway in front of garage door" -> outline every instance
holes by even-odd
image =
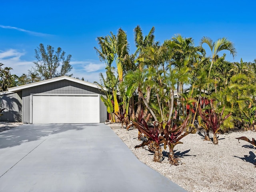
[[[0,149],[36,141],[68,130],[84,130],[88,126],[99,126],[99,124],[24,124],[0,132]]]

